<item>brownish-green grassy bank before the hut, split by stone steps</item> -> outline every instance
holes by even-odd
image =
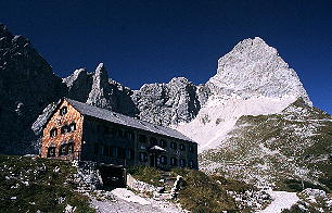
[[[156,168],[137,166],[129,168],[128,172],[139,180],[161,186],[158,180],[162,178],[162,172]],[[176,168],[170,174],[173,178],[177,175],[183,177],[178,202],[191,212],[239,212],[234,199],[227,195],[227,190],[243,192],[254,189],[253,186],[243,181],[226,179],[222,176],[209,176],[201,171]]]

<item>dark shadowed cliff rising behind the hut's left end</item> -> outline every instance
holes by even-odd
[[[50,102],[65,93],[65,85],[23,36],[0,24],[0,150],[36,151],[30,124]]]

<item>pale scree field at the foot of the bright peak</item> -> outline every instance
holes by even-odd
[[[296,97],[283,98],[213,96],[208,99],[197,116],[190,123],[181,123],[177,130],[196,141],[199,152],[225,146],[221,141],[233,129],[242,115],[260,115],[279,113],[296,100]]]

